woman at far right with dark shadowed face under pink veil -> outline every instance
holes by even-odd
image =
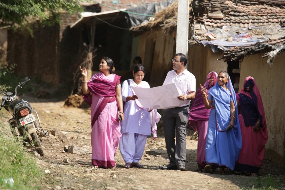
[[[237,93],[242,147],[237,171],[256,176],[264,158],[267,141],[267,125],[262,99],[253,77],[247,77],[243,88]]]

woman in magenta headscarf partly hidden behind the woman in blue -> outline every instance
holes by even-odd
[[[211,72],[207,76],[207,81],[203,85],[207,91],[216,84],[217,73]],[[204,98],[201,94],[201,87],[196,92],[196,97],[189,111],[188,126],[198,133],[197,164],[200,171],[205,167],[205,145],[207,137],[207,126],[209,113],[204,106]]]

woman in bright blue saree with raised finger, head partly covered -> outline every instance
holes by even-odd
[[[229,74],[221,71],[217,83],[207,95],[207,89],[201,86],[204,105],[211,108],[209,115],[205,171],[215,168],[224,173],[224,168],[234,170],[241,150],[241,129],[239,125],[237,100]]]

